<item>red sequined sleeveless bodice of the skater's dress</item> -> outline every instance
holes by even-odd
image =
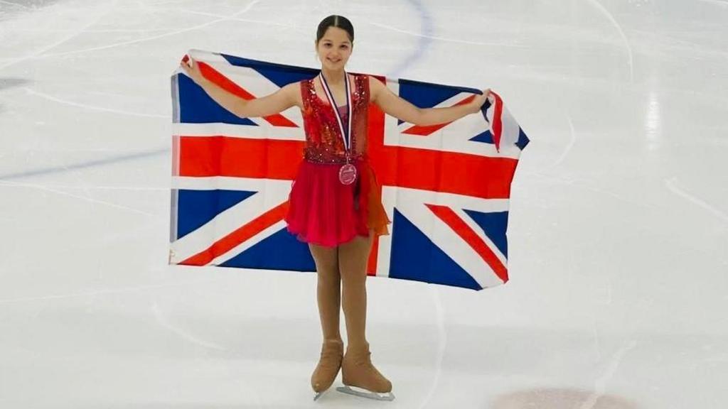
[[[365,75],[353,76],[352,96],[352,159],[362,159],[366,155],[367,123],[369,105],[369,79]],[[315,77],[314,77],[315,78]],[[314,88],[314,79],[301,82],[301,98],[304,108],[304,130],[306,146],[304,159],[314,163],[344,163],[346,149],[341,139],[339,122],[326,95],[319,96]],[[346,106],[339,107],[346,124]],[[346,127],[346,125],[344,125]]]

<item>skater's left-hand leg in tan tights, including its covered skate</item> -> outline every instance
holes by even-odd
[[[317,393],[314,400],[317,400],[339,375],[344,355],[344,343],[339,331],[341,276],[336,247],[309,245],[309,249],[316,263],[316,297],[323,333],[321,356],[311,375],[311,387]]]

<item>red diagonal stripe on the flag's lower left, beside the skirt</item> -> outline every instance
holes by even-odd
[[[279,204],[277,207],[263,213],[258,218],[254,219],[248,224],[241,226],[239,229],[228,234],[226,237],[219,239],[214,242],[213,245],[207,247],[196,255],[181,261],[180,264],[187,264],[190,266],[206,266],[212,262],[215,258],[223,255],[230,250],[234,249],[240,243],[254,237],[256,234],[268,229],[275,223],[282,221],[285,218],[285,213],[288,211],[288,201]]]

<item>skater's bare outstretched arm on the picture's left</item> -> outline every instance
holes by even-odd
[[[220,106],[241,118],[269,116],[285,111],[292,106],[300,106],[298,98],[296,98],[299,90],[298,83],[288,84],[280,90],[261,98],[245,100],[223,90],[223,88],[202,76],[199,65],[191,58],[189,64],[183,62],[181,67],[197,85],[202,87],[202,90],[207,92],[207,95],[210,95],[210,98],[213,98]]]

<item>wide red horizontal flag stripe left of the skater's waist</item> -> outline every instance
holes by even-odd
[[[298,140],[183,136],[180,176],[293,180],[303,158]]]

